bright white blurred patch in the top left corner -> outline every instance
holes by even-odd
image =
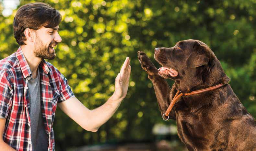
[[[4,10],[2,12],[3,16],[8,17],[12,14],[12,11],[17,8],[20,4],[19,0],[0,0],[3,3]]]

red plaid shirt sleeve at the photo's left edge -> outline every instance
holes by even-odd
[[[0,116],[7,118],[12,105],[11,85],[6,78],[6,71],[0,71]]]

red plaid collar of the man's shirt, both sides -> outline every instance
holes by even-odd
[[[16,57],[19,61],[19,65],[21,68],[21,71],[23,73],[24,78],[26,79],[28,76],[30,77],[30,75],[32,75],[32,72],[30,70],[29,64],[21,50],[21,48],[19,47],[17,52],[16,52]],[[46,63],[46,61],[44,59],[42,59],[41,63],[39,64],[39,66],[42,67],[43,71],[48,74],[49,72],[49,66]]]

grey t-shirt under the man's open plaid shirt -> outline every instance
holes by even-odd
[[[40,72],[36,79],[28,80],[28,94],[30,100],[30,121],[31,121],[31,141],[33,151],[46,151],[48,149],[48,138],[44,129],[43,116],[41,112],[41,91]]]

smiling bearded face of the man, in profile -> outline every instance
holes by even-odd
[[[54,47],[62,39],[58,33],[59,26],[54,28],[42,27],[36,31],[34,55],[41,59],[52,60],[56,57]]]

